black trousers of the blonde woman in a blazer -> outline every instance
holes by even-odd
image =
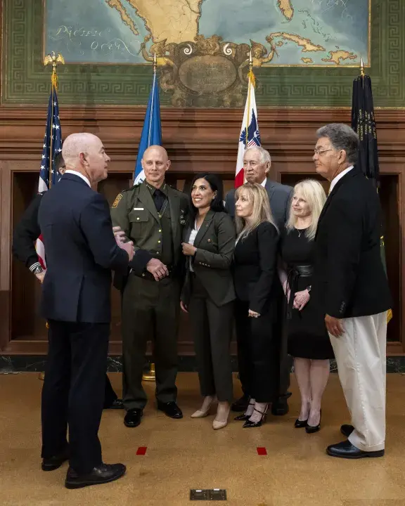
[[[243,391],[259,403],[276,401],[280,390],[280,340],[274,332],[274,312],[248,316],[249,302],[236,300],[238,365]]]

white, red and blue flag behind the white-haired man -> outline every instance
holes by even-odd
[[[243,157],[245,150],[255,145],[261,145],[259,124],[257,122],[257,108],[255,98],[255,74],[250,70],[248,74],[248,97],[246,98],[245,112],[243,114],[242,127],[240,128],[238,160],[236,162],[235,188],[242,186],[245,182],[245,171],[243,170]]]

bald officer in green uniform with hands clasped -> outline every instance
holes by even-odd
[[[184,193],[165,183],[170,167],[167,152],[153,145],[143,154],[143,183],[117,195],[111,216],[134,242],[136,254],[148,254],[143,269],[133,269],[126,283],[115,279],[122,291],[124,424],[141,423],[147,397],[142,387],[146,343],[153,340],[158,410],[181,418],[176,404],[177,333],[179,301],[184,276],[181,238],[188,200]]]

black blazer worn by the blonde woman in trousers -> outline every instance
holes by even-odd
[[[265,221],[247,237],[238,240],[235,247],[236,297],[249,301],[249,309],[257,313],[262,313],[277,298],[278,241],[276,227]]]

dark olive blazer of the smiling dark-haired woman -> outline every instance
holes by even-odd
[[[190,234],[191,224],[185,229],[184,242],[188,242]],[[197,252],[192,259],[193,270],[217,306],[224,306],[235,299],[231,273],[235,235],[235,226],[229,214],[209,211],[195,236]],[[188,304],[191,295],[189,266],[186,260],[186,282],[181,293],[185,304]]]

